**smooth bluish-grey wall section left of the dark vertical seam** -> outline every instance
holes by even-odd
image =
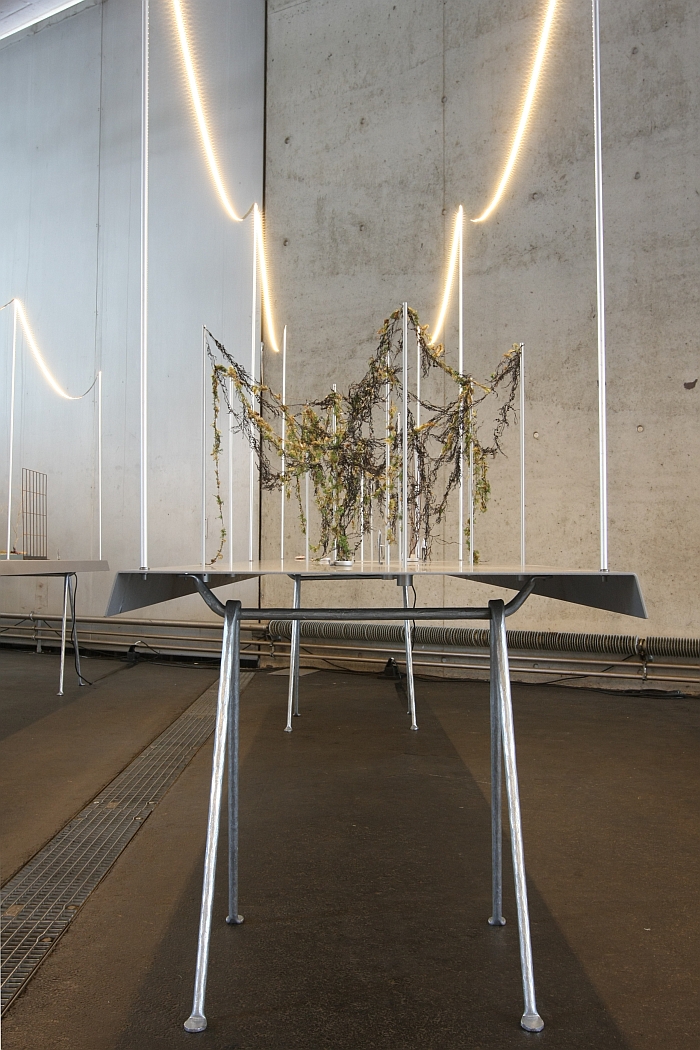
[[[264,3],[190,6],[211,130],[243,211],[262,195]],[[103,550],[112,569],[133,568],[140,556],[140,0],[86,3],[3,41],[0,98],[0,304],[13,296],[24,301],[50,369],[70,393],[82,393],[103,370]],[[200,556],[201,326],[250,355],[252,232],[250,220],[234,226],[215,196],[168,3],[151,4],[150,98],[149,562],[167,565]],[[3,523],[10,314],[0,314]],[[46,471],[49,556],[96,558],[94,399],[59,400],[23,345],[17,390],[15,506],[20,468]],[[247,503],[240,448],[236,471]],[[209,481],[211,492],[211,468]],[[211,498],[208,512],[211,555],[217,533]],[[21,524],[17,539],[21,545]],[[242,514],[234,540],[239,553],[243,544],[247,551]],[[102,614],[109,584],[106,574],[82,580],[80,611]],[[0,602],[8,611],[57,611],[59,594],[58,583],[5,582]],[[255,596],[249,586],[248,598]],[[192,598],[156,615],[205,611]]]

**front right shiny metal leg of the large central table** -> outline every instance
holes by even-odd
[[[508,668],[508,645],[506,640],[506,615],[502,601],[489,602],[491,612],[492,652],[501,708],[503,751],[506,765],[506,792],[508,795],[508,816],[510,818],[510,839],[515,877],[515,901],[517,904],[517,931],[521,942],[521,970],[523,973],[523,995],[525,1011],[521,1026],[527,1032],[540,1032],[545,1023],[537,1013],[535,1003],[534,972],[532,968],[532,944],[530,941],[530,915],[525,876],[525,853],[523,849],[523,826],[521,823],[521,801],[517,788],[517,766],[515,763],[515,733],[513,729],[513,707],[510,696],[510,671]]]

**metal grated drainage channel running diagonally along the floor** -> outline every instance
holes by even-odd
[[[245,689],[254,675],[241,674]],[[214,729],[214,685],[0,891],[2,1012]]]

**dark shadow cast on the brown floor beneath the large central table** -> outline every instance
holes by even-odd
[[[224,850],[219,857],[209,1028],[193,1035],[182,1027],[191,1006],[198,867],[119,1050],[627,1047],[532,885],[547,1027],[538,1035],[519,1028],[510,866],[509,925],[492,929],[488,805],[429,704],[422,700],[421,731],[410,733],[393,682],[314,675],[302,717],[285,734],[285,688],[283,678],[260,676],[247,694],[278,701],[241,773],[241,927],[224,923]]]

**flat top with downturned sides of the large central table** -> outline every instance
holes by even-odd
[[[107,608],[107,615],[157,605],[195,591],[192,575],[204,578],[213,589],[264,575],[301,576],[307,581],[400,580],[405,576],[455,576],[475,583],[519,590],[533,576],[533,593],[594,609],[607,609],[631,616],[646,616],[639,582],[633,572],[600,572],[598,569],[560,569],[542,565],[475,565],[467,562],[408,562],[388,565],[365,561],[349,567],[310,560],[279,559],[264,562],[218,562],[212,565],[178,565],[120,572]],[[302,600],[303,601],[303,600]],[[264,610],[261,610],[264,616]]]

